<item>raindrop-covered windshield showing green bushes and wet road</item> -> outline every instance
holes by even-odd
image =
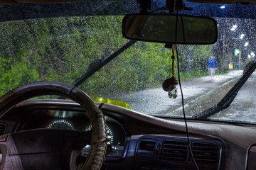
[[[154,7],[160,7],[160,2],[154,1]],[[172,77],[171,49],[161,43],[131,42],[123,38],[122,18],[132,11],[127,8],[118,11],[118,3],[122,2],[88,3],[85,1],[82,6],[90,10],[72,15],[67,13],[80,8],[78,4],[72,8],[61,6],[67,8],[63,13],[59,8],[54,13],[52,6],[53,16],[61,17],[40,14],[48,10],[46,5],[35,7],[37,11],[32,15],[28,12],[33,10],[32,5],[1,6],[5,17],[0,23],[0,96],[33,81],[74,84],[121,48],[121,54],[78,87],[92,98],[124,101],[134,111],[181,118],[180,89],[176,98],[169,98],[162,88],[164,81]],[[238,18],[230,18],[235,17],[234,6],[188,5],[194,10],[183,13],[214,17],[219,33],[218,41],[212,45],[177,45],[184,107],[187,117],[192,118],[219,103],[242,77],[247,63],[255,60],[256,22],[255,11],[247,17],[245,13],[237,13]],[[139,12],[136,2],[127,6],[134,6],[134,11]],[[208,6],[209,13],[200,12]],[[255,7],[236,6],[248,8],[247,11]],[[28,11],[10,12],[12,8]],[[129,47],[124,47],[127,42]],[[174,62],[177,66],[177,60]],[[174,72],[178,79],[177,67]],[[253,73],[230,107],[212,115],[210,120],[256,123],[255,78]]]

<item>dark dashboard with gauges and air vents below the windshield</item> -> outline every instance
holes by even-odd
[[[108,104],[102,106],[102,112],[109,138],[102,169],[196,169],[188,145],[199,169],[256,169],[255,125],[188,120],[188,143],[181,119],[156,118]],[[25,101],[0,120],[0,151],[6,135],[15,139],[16,134],[35,129],[75,133],[90,132],[91,126],[87,113],[72,101]],[[36,141],[37,136],[40,134],[28,137],[24,143],[31,142],[30,138]],[[18,151],[22,150],[18,145],[16,147]],[[82,147],[85,159],[89,152],[90,144]],[[24,169],[46,169],[43,165],[53,161],[28,162],[31,151],[29,153],[22,154]],[[46,154],[50,155],[50,152]],[[33,157],[36,155],[33,153]]]

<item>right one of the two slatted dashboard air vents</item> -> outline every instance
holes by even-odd
[[[218,155],[220,148],[213,143],[196,143],[192,144],[193,157],[197,164],[211,164],[218,163]],[[192,162],[192,157],[191,157]]]

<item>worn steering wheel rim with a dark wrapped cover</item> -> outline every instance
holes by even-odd
[[[85,108],[92,125],[92,142],[90,154],[82,165],[82,170],[100,169],[107,149],[107,126],[102,111],[85,92],[77,87],[55,81],[38,81],[19,86],[0,98],[0,116],[3,116],[17,103],[43,95],[65,96]]]

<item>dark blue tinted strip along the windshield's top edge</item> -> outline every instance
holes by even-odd
[[[191,1],[191,0],[190,0]],[[193,16],[211,16],[226,18],[256,18],[255,4],[249,5],[225,5],[198,4],[184,0],[193,11],[181,11],[179,13]],[[219,2],[219,1],[218,1]],[[117,10],[118,6],[118,10]],[[122,6],[122,8],[119,8]],[[152,11],[165,6],[164,0],[152,2]],[[139,13],[137,1],[82,1],[71,4],[26,4],[0,5],[0,21],[12,21],[31,18],[48,18],[60,16],[104,16],[125,15],[127,13]]]

